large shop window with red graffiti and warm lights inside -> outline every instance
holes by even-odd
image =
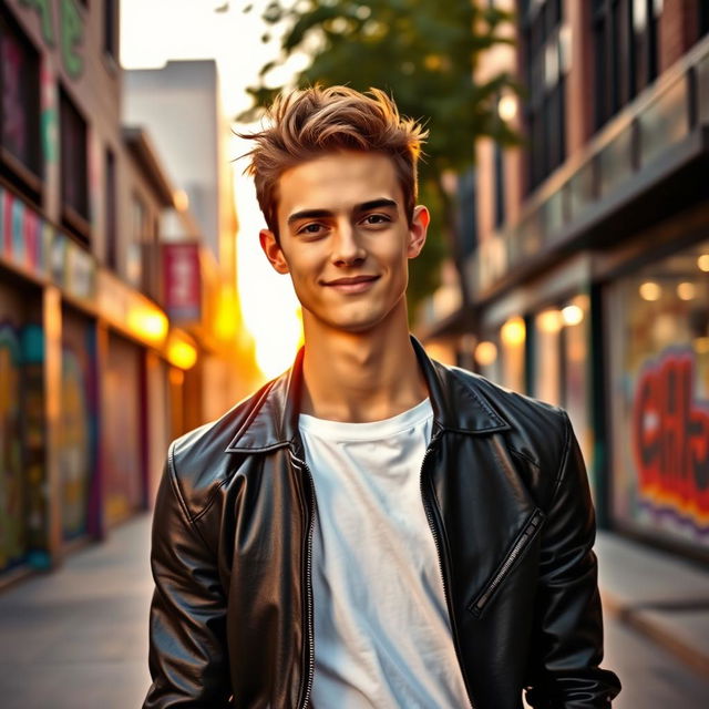
[[[709,547],[709,242],[609,288],[613,514]]]

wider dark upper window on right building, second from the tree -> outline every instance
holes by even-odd
[[[595,125],[657,78],[661,0],[594,0]]]

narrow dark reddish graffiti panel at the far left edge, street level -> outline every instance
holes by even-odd
[[[20,333],[0,322],[0,571],[21,561],[27,549],[21,378]]]

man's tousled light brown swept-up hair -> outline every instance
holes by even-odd
[[[393,161],[407,219],[418,194],[417,161],[428,135],[417,121],[402,117],[379,89],[360,93],[348,86],[315,85],[280,94],[266,117],[270,126],[243,137],[256,141],[247,167],[268,228],[278,237],[278,179],[285,171],[338,151],[377,152]]]

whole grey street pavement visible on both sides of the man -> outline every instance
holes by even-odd
[[[126,709],[150,685],[150,515],[0,593],[3,709]],[[609,533],[596,552],[614,709],[703,709],[709,569]]]

